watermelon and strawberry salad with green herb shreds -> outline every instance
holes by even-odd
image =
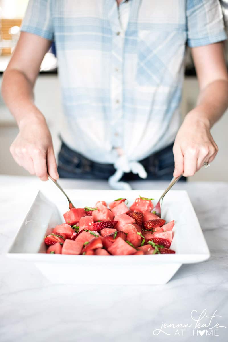
[[[75,255],[142,255],[175,253],[170,249],[174,221],[153,211],[152,198],[98,201],[92,208],[72,208],[66,221],[45,236],[46,253]]]

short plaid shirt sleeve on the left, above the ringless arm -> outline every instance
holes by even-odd
[[[53,40],[50,0],[29,0],[21,31]]]

